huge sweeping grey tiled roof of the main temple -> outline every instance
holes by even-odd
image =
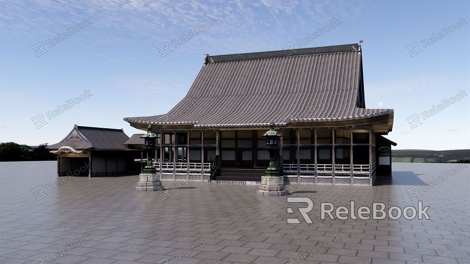
[[[167,114],[127,117],[137,124],[268,126],[392,114],[358,106],[358,44],[207,56],[187,95]]]

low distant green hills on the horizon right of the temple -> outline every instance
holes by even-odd
[[[470,149],[420,150],[401,149],[391,151],[392,162],[470,163]]]

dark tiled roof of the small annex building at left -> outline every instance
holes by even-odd
[[[59,143],[49,145],[47,148],[56,150],[60,147],[70,146],[75,150],[83,149],[127,149],[124,142],[129,137],[122,129],[86,127],[75,125]]]

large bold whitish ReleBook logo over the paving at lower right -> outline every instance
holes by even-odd
[[[297,208],[303,217],[303,220],[307,224],[312,224],[308,213],[314,208],[313,201],[308,197],[287,197],[287,203],[306,203],[306,207]],[[331,220],[347,220],[347,219],[361,219],[361,220],[382,220],[389,218],[391,220],[397,220],[403,217],[406,220],[415,219],[419,220],[429,219],[427,210],[429,206],[422,206],[422,201],[418,201],[417,208],[413,206],[406,206],[401,209],[398,206],[388,207],[384,203],[372,203],[369,208],[367,206],[355,207],[354,201],[349,202],[349,207],[338,206],[335,207],[332,203],[320,203],[320,219],[325,220],[328,217]],[[292,214],[292,208],[287,208],[287,213]],[[287,224],[300,224],[297,218],[287,218]]]

